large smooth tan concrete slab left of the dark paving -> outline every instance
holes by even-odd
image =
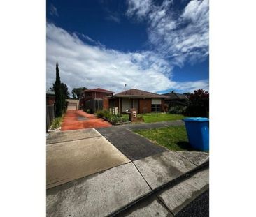
[[[48,144],[46,156],[47,188],[130,162],[102,136]]]

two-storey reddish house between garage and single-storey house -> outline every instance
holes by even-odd
[[[97,110],[106,109],[106,107],[103,106],[104,98],[111,97],[113,94],[113,91],[108,91],[101,88],[87,89],[83,91],[81,104],[83,104],[85,111],[89,110],[90,113],[94,113]]]

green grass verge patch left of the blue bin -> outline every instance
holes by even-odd
[[[192,151],[187,140],[185,126],[169,126],[150,130],[134,130],[134,133],[143,135],[153,143],[166,147],[172,151]]]

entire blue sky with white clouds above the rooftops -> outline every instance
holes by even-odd
[[[52,1],[46,6],[46,88],[118,93],[209,89],[208,0]]]

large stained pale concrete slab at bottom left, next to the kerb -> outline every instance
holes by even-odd
[[[108,216],[150,193],[133,163],[47,190],[47,216]]]

